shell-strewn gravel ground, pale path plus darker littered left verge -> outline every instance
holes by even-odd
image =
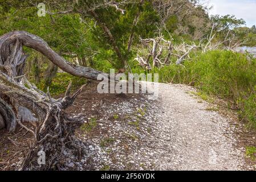
[[[238,124],[208,109],[208,102],[191,91],[185,85],[159,84],[156,100],[145,94],[110,105],[95,101],[102,115],[92,131],[79,132],[87,154],[77,169],[253,169],[237,144]]]

